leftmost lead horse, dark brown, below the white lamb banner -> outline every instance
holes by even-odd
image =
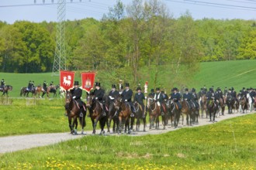
[[[71,129],[71,134],[77,134],[77,128],[78,128],[78,119],[79,123],[81,124],[81,134],[84,134],[84,128],[86,125],[85,122],[85,115],[86,115],[86,107],[84,104],[84,110],[83,115],[80,117],[80,108],[79,104],[76,100],[72,98],[71,92],[66,93],[66,104],[65,104],[65,110],[68,117],[68,124],[69,128]],[[73,120],[73,122],[72,122]]]

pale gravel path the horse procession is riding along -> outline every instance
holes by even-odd
[[[248,113],[248,114],[254,114]],[[239,117],[244,116],[246,114],[225,114],[224,116],[216,117],[216,121],[223,121],[229,118],[233,117]],[[185,122],[185,120],[184,120]],[[180,121],[181,123],[181,121]],[[207,118],[199,118],[199,124],[193,124],[192,126],[183,126],[182,124],[179,124],[178,128],[171,128],[170,126],[167,126],[165,130],[162,130],[162,126],[160,126],[160,129],[152,129],[149,130],[149,126],[146,128],[146,132],[144,131],[138,131],[138,132],[132,132],[132,134],[129,134],[131,136],[139,136],[139,135],[146,135],[146,134],[162,134],[166,133],[168,131],[175,131],[180,128],[193,128],[198,126],[203,126],[206,124],[213,124],[212,122],[209,122],[209,119]],[[142,128],[140,128],[142,130]],[[40,147],[45,145],[51,145],[55,144],[61,141],[67,141],[72,140],[76,138],[82,138],[87,135],[92,135],[92,131],[85,131],[86,135],[72,135],[68,132],[65,133],[53,133],[53,134],[28,134],[28,135],[20,135],[20,136],[9,136],[9,137],[2,137],[0,138],[0,153],[6,153],[6,152],[12,152],[12,151],[19,151],[27,148],[34,148],[34,147]],[[97,134],[99,134],[99,130],[96,131]],[[118,135],[118,134],[106,134],[106,135]],[[120,134],[122,135],[122,134]]]

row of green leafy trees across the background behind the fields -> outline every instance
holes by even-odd
[[[0,22],[0,71],[50,72],[55,22]],[[173,18],[160,0],[119,0],[100,21],[65,22],[68,70],[103,70],[110,79],[133,80],[168,66],[171,82],[195,73],[200,61],[254,59],[253,20],[194,20],[189,12]],[[112,78],[117,77],[117,78]]]

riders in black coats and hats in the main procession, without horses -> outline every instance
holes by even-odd
[[[72,93],[72,96],[74,97],[74,100],[77,100],[79,106],[81,107],[82,106],[82,101],[81,101],[82,90],[78,88],[78,84],[79,84],[78,81],[74,81],[74,89],[71,90],[71,93]],[[192,88],[191,90],[189,90],[188,88],[185,88],[185,92],[181,94],[178,88],[174,87],[171,90],[169,97],[166,93],[164,93],[164,91],[161,91],[159,87],[157,87],[155,90],[156,92],[154,92],[154,89],[151,89],[150,93],[148,94],[148,97],[151,97],[153,100],[157,102],[158,106],[161,106],[161,112],[164,109],[163,102],[167,101],[168,99],[173,100],[173,102],[175,102],[178,105],[179,109],[182,109],[182,104],[180,102],[181,100],[187,101],[190,109],[192,109],[193,107],[199,109],[199,105],[202,104],[203,95],[206,96],[206,105],[209,104],[210,100],[213,100],[214,103],[216,104],[216,107],[220,105],[220,99],[222,99],[223,102],[225,102],[223,97],[231,96],[231,97],[234,97],[234,100],[238,101],[237,99],[238,95],[240,95],[240,97],[247,97],[247,93],[250,93],[250,96],[254,101],[254,98],[256,96],[255,89],[253,88],[250,88],[247,90],[243,88],[242,90],[240,90],[240,93],[237,94],[237,92],[234,90],[234,87],[231,87],[228,90],[227,90],[227,87],[225,87],[225,89],[222,92],[220,87],[216,88],[216,90],[214,91],[213,87],[210,87],[209,90],[207,90],[206,86],[204,86],[200,89],[199,93],[196,93],[195,88]],[[104,100],[105,90],[101,88],[99,82],[95,83],[95,90],[92,93],[95,96],[95,100],[99,100],[99,102],[102,104],[102,109],[104,110],[102,111],[102,116],[106,116],[106,112],[108,111],[108,108],[106,107],[106,102]],[[146,100],[147,97],[144,95],[144,93],[142,93],[142,90],[140,87],[137,87],[137,93],[135,93],[133,97],[133,90],[130,89],[129,83],[125,83],[125,89],[123,89],[123,86],[121,86],[119,90],[116,89],[115,84],[112,84],[112,90],[110,90],[108,95],[109,100],[113,102],[114,99],[116,99],[116,97],[118,97],[119,95],[122,97],[123,102],[127,102],[128,104],[130,104],[130,108],[132,110],[132,114],[130,115],[131,117],[134,117],[134,114],[135,114],[135,107],[133,105],[134,102],[137,102],[138,104],[140,104],[144,113],[144,110],[145,110],[144,100]],[[133,100],[132,100],[132,97],[133,97]],[[82,107],[81,107],[81,112],[82,112]],[[115,116],[117,116],[118,114],[119,112],[117,111]]]

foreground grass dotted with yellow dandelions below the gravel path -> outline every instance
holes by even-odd
[[[85,136],[0,155],[1,169],[255,169],[256,114],[133,137]]]

